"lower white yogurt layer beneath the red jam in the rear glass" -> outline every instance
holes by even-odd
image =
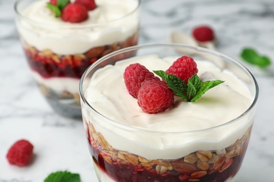
[[[77,78],[68,78],[68,77],[43,78],[36,71],[32,71],[32,76],[39,84],[43,84],[55,92],[67,91],[72,94],[79,93],[79,79]]]

